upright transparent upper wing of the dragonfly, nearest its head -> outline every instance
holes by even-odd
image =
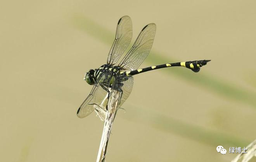
[[[107,64],[114,65],[125,52],[126,48],[131,42],[132,37],[132,23],[129,16],[123,16],[118,21],[116,27],[116,38],[109,51],[107,57]]]

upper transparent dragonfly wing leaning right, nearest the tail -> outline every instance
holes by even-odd
[[[137,40],[133,44],[133,47],[121,60],[118,66],[122,67],[124,70],[136,70],[145,60],[149,51],[152,47],[154,37],[156,33],[156,24],[146,25],[140,34],[138,35]]]

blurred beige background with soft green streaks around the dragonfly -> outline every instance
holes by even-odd
[[[256,139],[256,1],[0,2],[0,161],[92,162],[103,123],[76,111],[105,64],[118,19],[133,41],[157,25],[141,67],[211,59],[199,73],[168,68],[135,76],[109,141],[109,162],[228,162],[216,146]],[[253,160],[252,160],[253,161]],[[254,162],[256,160],[254,159]]]

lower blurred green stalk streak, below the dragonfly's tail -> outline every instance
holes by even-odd
[[[134,112],[133,115],[125,115],[124,118],[129,121],[150,125],[161,131],[178,134],[184,138],[195,140],[206,145],[216,147],[221,144],[229,147],[244,147],[249,143],[249,141],[242,140],[234,135],[230,136],[228,134],[211,131],[209,129],[201,128],[200,126],[178,121],[150,109],[142,107],[138,108],[134,105],[129,105],[127,107]]]

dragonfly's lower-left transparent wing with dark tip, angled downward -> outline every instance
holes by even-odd
[[[106,100],[111,78],[112,75],[108,71],[104,71],[100,74],[92,88],[92,91],[90,92],[90,95],[79,107],[77,111],[78,117],[83,118],[90,115],[95,108],[103,104],[102,101]]]

